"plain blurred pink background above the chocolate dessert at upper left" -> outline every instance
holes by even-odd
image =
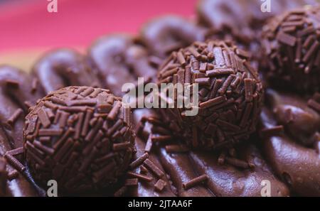
[[[47,0],[0,4],[0,55],[31,49],[85,48],[107,33],[138,33],[155,16],[191,17],[197,0],[58,0],[48,13]],[[1,61],[1,60],[0,60]]]

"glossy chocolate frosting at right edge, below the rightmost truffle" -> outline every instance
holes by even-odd
[[[319,114],[294,94],[267,91],[270,106],[261,114],[262,129],[284,126],[284,132],[262,139],[262,146],[272,169],[294,193],[320,195]]]

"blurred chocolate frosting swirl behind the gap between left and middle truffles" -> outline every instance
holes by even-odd
[[[122,96],[122,85],[137,84],[137,77],[150,81],[156,70],[149,63],[146,49],[129,35],[119,34],[100,38],[88,50],[92,63],[108,89]]]

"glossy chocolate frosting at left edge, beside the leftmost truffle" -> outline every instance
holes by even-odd
[[[33,105],[36,100],[42,96],[41,87],[36,85],[32,87],[34,78],[14,67],[0,67],[0,157],[5,156],[6,152],[14,148],[23,146],[23,119],[28,112],[27,105]],[[25,103],[28,101],[28,103]],[[27,105],[26,105],[27,104]],[[21,114],[12,124],[8,120],[12,115],[21,109]],[[20,155],[21,156],[21,155]],[[21,157],[20,157],[21,158]],[[10,174],[16,171],[16,168],[7,162],[6,171]],[[25,178],[24,176],[27,175]],[[18,175],[6,182],[6,196],[36,196],[36,188],[30,183],[32,180],[24,172],[18,172]],[[1,190],[0,190],[1,191]]]

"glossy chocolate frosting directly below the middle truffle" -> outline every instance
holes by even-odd
[[[141,119],[142,115],[156,116],[146,109],[134,111],[135,119]],[[170,175],[178,196],[261,196],[262,180],[270,180],[272,196],[289,195],[287,185],[272,173],[270,165],[256,146],[249,144],[237,148],[237,152],[240,158],[253,163],[255,167],[242,169],[227,163],[221,165],[218,163],[219,153],[168,153],[163,144],[154,144],[151,150],[151,154],[159,158]],[[188,190],[183,188],[183,183],[203,174],[208,175],[207,185],[197,185]]]

